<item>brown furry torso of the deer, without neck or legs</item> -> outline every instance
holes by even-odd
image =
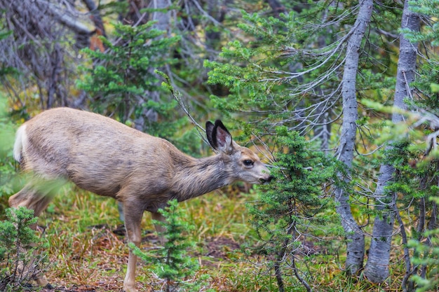
[[[49,179],[63,176],[99,195],[114,196],[142,178],[164,183],[172,176],[172,144],[95,113],[50,109],[27,121],[25,133],[26,170]]]

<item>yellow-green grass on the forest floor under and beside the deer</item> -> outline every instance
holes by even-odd
[[[194,279],[210,274],[206,288],[228,292],[277,291],[273,272],[262,265],[264,258],[245,258],[239,249],[241,244],[257,242],[245,208],[245,202],[251,200],[255,200],[255,194],[241,194],[229,187],[180,203],[180,208],[186,210],[182,220],[196,225],[189,234],[196,242],[192,256],[201,263],[201,270]],[[114,200],[69,186],[63,188],[41,214],[39,225],[43,227],[40,228],[42,236],[50,244],[46,277],[58,289],[56,291],[121,291],[128,246],[123,235],[114,233],[121,227]],[[141,248],[156,248],[156,235],[147,212],[142,230]],[[298,260],[301,271],[309,275],[313,291],[400,291],[402,268],[392,267],[392,280],[384,284],[346,277],[340,269],[344,251],[337,249],[325,249]],[[292,272],[285,271],[284,280],[286,291],[306,291]],[[140,262],[137,267],[139,291],[161,291],[162,287],[163,281]]]

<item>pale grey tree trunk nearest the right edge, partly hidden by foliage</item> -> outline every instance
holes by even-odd
[[[412,31],[419,31],[419,15],[410,11],[408,0],[405,0],[401,27]],[[412,95],[410,83],[414,81],[416,69],[417,43],[410,43],[403,34],[400,34],[400,55],[398,60],[398,71],[396,75],[396,88],[393,106],[400,109],[406,109],[404,103],[405,97]],[[403,116],[393,113],[392,123],[400,123]],[[391,150],[391,146],[388,147]],[[389,260],[391,251],[391,239],[393,234],[393,222],[395,214],[393,205],[396,204],[396,198],[393,193],[386,193],[385,188],[393,179],[395,169],[391,165],[381,165],[377,189],[374,197],[377,204],[376,209],[383,211],[382,217],[377,216],[374,220],[372,230],[372,242],[370,243],[369,256],[365,266],[365,276],[372,282],[382,282],[389,277]]]

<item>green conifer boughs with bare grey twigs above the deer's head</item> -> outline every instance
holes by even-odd
[[[212,105],[224,115],[245,115],[242,119],[257,123],[255,134],[258,130],[276,134],[275,127],[280,124],[302,134],[320,134],[321,125],[332,123],[328,121],[337,120],[341,114],[339,68],[346,46],[332,32],[339,32],[342,23],[355,22],[355,13],[346,11],[358,6],[349,5],[354,4],[346,4],[344,10],[327,1],[313,2],[279,18],[243,12],[243,22],[238,27],[245,37],[227,43],[218,60],[204,63],[211,69],[208,83],[229,89],[226,97],[211,95]],[[375,15],[374,20],[391,31],[399,25],[397,17],[397,13],[392,14],[384,21],[384,16]],[[322,24],[322,19],[331,22]],[[388,96],[386,88],[393,86],[395,80],[392,73],[396,62],[391,59],[392,54],[386,53],[395,49],[394,44],[381,35],[370,34],[367,40],[374,43],[367,44],[365,50],[369,51],[360,56],[358,95],[377,97],[383,102]],[[382,43],[384,53],[371,49]],[[370,58],[374,61],[370,62]]]

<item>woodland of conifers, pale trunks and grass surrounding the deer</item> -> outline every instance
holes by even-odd
[[[43,109],[102,113],[194,156],[210,153],[199,125],[222,118],[276,182],[180,204],[200,264],[185,281],[438,291],[438,0],[0,0],[0,13],[1,214],[22,183],[14,131]],[[116,202],[63,188],[39,218],[53,285],[119,291],[120,224]],[[140,269],[140,291],[163,289]]]

